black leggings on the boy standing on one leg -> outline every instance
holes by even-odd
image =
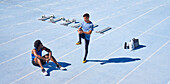
[[[85,40],[85,56],[84,56],[84,60],[86,60],[90,40],[85,39],[85,34],[79,34],[79,42],[81,42],[81,38],[83,38]]]

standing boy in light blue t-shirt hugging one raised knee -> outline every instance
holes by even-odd
[[[81,44],[81,38],[85,40],[85,56],[83,59],[83,63],[86,63],[86,58],[88,54],[88,46],[90,42],[90,35],[93,31],[93,23],[89,20],[90,15],[88,13],[85,13],[83,15],[84,21],[81,23],[81,26],[78,29],[79,33],[79,41],[76,43],[76,45]]]

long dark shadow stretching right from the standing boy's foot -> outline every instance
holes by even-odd
[[[129,57],[122,57],[122,58],[110,58],[108,60],[87,60],[87,62],[102,62],[101,65],[107,64],[107,63],[127,63],[127,62],[133,62],[141,60],[140,58],[129,58]]]

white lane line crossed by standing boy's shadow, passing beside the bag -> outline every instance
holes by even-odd
[[[144,35],[146,32],[150,31],[151,29],[153,29],[154,27],[158,26],[160,23],[162,23],[163,21],[165,21],[166,19],[168,19],[169,17],[161,20],[159,23],[155,24],[154,26],[150,27],[148,30],[144,31],[143,33],[141,33],[138,37]],[[122,49],[122,47],[118,48],[117,50],[113,51],[112,53],[110,53],[108,56],[105,56],[103,59],[106,59],[107,57],[110,57],[112,56],[114,53],[116,53],[118,50]],[[93,67],[95,66],[96,64],[92,65]],[[92,67],[90,67],[92,68]],[[72,77],[70,80],[66,81],[65,84],[69,83],[71,80],[73,80],[74,78],[80,76],[81,74],[83,74],[84,72],[86,72],[87,70],[89,70],[90,68],[87,68],[85,69],[84,71],[80,72],[79,74],[75,75],[74,77]]]

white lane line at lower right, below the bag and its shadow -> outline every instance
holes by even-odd
[[[129,75],[131,75],[134,71],[136,71],[141,65],[143,65],[146,61],[148,61],[153,55],[155,55],[158,51],[160,51],[164,46],[166,46],[170,40],[168,40],[165,44],[163,44],[159,49],[157,49],[153,54],[147,57],[141,64],[139,64],[136,68],[130,71],[127,75],[125,75],[122,79],[120,79],[117,84],[120,84],[123,80],[125,80]]]

